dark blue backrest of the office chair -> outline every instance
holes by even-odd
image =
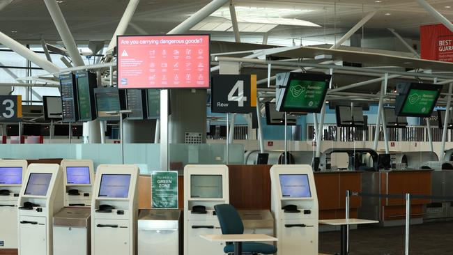
[[[214,206],[214,209],[224,235],[241,235],[244,233],[243,220],[240,219],[238,211],[233,206],[224,203]]]

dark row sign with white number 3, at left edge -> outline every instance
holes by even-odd
[[[22,96],[0,95],[0,123],[22,121]]]

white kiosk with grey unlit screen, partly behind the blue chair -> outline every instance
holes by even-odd
[[[214,206],[229,203],[228,167],[187,165],[184,168],[184,254],[223,255],[224,243],[200,235],[222,234]]]

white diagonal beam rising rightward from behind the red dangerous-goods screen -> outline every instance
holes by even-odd
[[[169,31],[169,35],[171,34],[178,34],[178,33],[185,33],[192,29],[193,26],[204,20],[206,17],[214,13],[220,7],[224,6],[224,4],[228,3],[230,0],[213,0],[208,3],[204,8],[201,8],[197,13],[190,16],[187,20],[183,23],[176,26],[174,29]]]

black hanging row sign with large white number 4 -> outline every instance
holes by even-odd
[[[256,107],[256,75],[214,75],[211,111],[248,114]]]

